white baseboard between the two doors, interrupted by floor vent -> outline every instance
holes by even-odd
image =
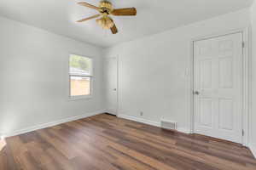
[[[160,122],[148,121],[147,119],[138,118],[136,116],[118,115],[118,117],[124,118],[124,119],[127,119],[127,120],[131,120],[131,121],[135,121],[135,122],[142,122],[142,123],[145,123],[145,124],[148,124],[148,125],[152,125],[154,127],[160,127]],[[177,127],[177,131],[181,132],[181,133],[190,133],[189,129],[179,128],[179,127]]]

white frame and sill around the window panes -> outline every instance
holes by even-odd
[[[71,75],[70,74],[70,57],[72,55],[77,55],[79,57],[84,57],[84,58],[88,58],[88,59],[91,59],[91,73],[90,73],[90,76],[79,76],[79,75],[75,75],[75,77],[90,77],[90,94],[89,95],[77,95],[77,96],[72,96],[71,95],[71,78],[72,76],[74,75]],[[87,56],[87,55],[84,55],[84,54],[75,54],[75,53],[70,53],[68,55],[68,59],[67,59],[67,63],[68,63],[68,73],[67,73],[67,76],[68,76],[68,100],[69,101],[73,101],[73,100],[79,100],[79,99],[92,99],[93,97],[93,82],[94,82],[94,59],[90,56]]]

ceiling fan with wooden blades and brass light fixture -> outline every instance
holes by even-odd
[[[114,16],[132,16],[137,14],[136,8],[113,8],[112,3],[106,0],[101,1],[99,7],[96,7],[94,5],[91,5],[90,3],[85,2],[80,2],[78,4],[84,7],[96,9],[100,14],[95,14],[91,17],[78,20],[77,22],[84,22],[86,20],[92,20],[101,17],[97,19],[96,22],[100,26],[102,26],[103,29],[110,29],[113,34],[118,33],[118,29],[115,26],[112,18],[109,17],[109,15],[112,14]]]

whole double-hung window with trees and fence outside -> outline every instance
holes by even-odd
[[[92,59],[71,54],[69,56],[70,97],[91,95]]]

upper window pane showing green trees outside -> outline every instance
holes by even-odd
[[[69,57],[69,74],[74,76],[91,76],[92,60],[71,54]]]

